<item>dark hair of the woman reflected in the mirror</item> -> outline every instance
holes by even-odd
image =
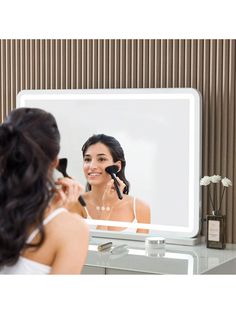
[[[82,147],[83,157],[84,157],[88,147],[91,145],[94,145],[96,143],[102,143],[102,144],[107,146],[107,148],[109,149],[109,151],[111,153],[111,156],[112,156],[114,162],[121,161],[121,170],[116,175],[126,185],[123,193],[129,194],[130,184],[125,177],[125,166],[126,166],[125,155],[124,155],[124,151],[123,151],[123,148],[121,147],[120,143],[112,136],[108,136],[105,134],[95,134],[95,135],[91,136],[84,143],[84,145]],[[91,190],[91,186],[89,183],[87,183],[86,190],[87,191]]]

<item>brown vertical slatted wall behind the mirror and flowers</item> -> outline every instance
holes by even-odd
[[[232,179],[222,210],[227,241],[236,243],[235,58],[235,40],[0,40],[0,119],[22,89],[197,88],[202,175]],[[216,190],[219,201],[220,185]],[[211,207],[207,189],[202,192],[205,216]]]

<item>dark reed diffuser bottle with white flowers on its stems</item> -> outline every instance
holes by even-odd
[[[206,234],[206,246],[213,249],[224,249],[226,247],[226,215],[221,213],[221,205],[225,189],[232,186],[232,182],[228,178],[221,179],[221,176],[205,176],[200,180],[200,185],[209,185],[210,183],[221,182],[223,185],[223,191],[220,197],[219,209],[216,209],[216,204],[213,202],[211,193],[209,191],[210,203],[212,205],[212,214],[207,215],[207,234]]]

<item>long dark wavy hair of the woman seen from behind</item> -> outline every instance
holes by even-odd
[[[44,212],[55,190],[50,167],[59,150],[56,120],[44,110],[13,110],[0,125],[0,267],[44,242]],[[32,226],[40,238],[27,244]]]

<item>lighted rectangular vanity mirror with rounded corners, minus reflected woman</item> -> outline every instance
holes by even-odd
[[[120,142],[129,194],[149,204],[151,223],[99,220],[99,224],[132,226],[133,234],[147,228],[149,235],[170,238],[199,233],[201,97],[195,89],[28,90],[17,96],[17,107],[23,106],[55,116],[61,133],[59,157],[68,159],[67,172],[84,185],[84,142],[100,133]],[[92,233],[99,236],[94,226]],[[116,234],[126,238],[128,231]]]

